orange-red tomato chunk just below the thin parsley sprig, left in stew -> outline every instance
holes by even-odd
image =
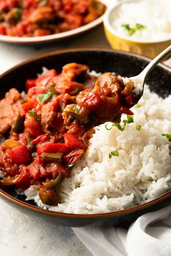
[[[41,129],[41,122],[36,121],[34,117],[28,113],[26,113],[24,126],[25,132],[28,133],[30,136],[37,137],[43,133]]]

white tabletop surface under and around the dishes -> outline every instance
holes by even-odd
[[[51,46],[41,48],[0,43],[0,73],[27,58],[48,51],[97,46],[110,47],[103,26],[69,41],[54,42]],[[1,198],[0,211],[0,256],[92,255],[71,228],[44,223],[41,220],[37,222],[21,214]]]

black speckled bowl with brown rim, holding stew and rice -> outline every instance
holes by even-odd
[[[1,98],[4,97],[11,87],[16,87],[19,91],[24,90],[25,80],[34,78],[37,73],[41,73],[42,66],[48,69],[55,68],[60,72],[63,65],[70,62],[78,62],[88,65],[90,70],[93,69],[96,72],[115,71],[117,74],[132,77],[139,74],[149,61],[150,59],[137,54],[101,48],[50,52],[31,58],[0,75],[0,96]],[[148,75],[146,83],[150,85],[152,91],[161,97],[168,96],[171,93],[171,69],[159,64]],[[128,225],[140,215],[160,209],[171,202],[171,191],[169,191],[148,203],[129,209],[104,214],[85,215],[43,210],[36,206],[33,200],[25,202],[25,196],[17,195],[11,187],[0,185],[0,195],[6,202],[32,218],[38,217],[44,219],[44,221],[70,227]]]

